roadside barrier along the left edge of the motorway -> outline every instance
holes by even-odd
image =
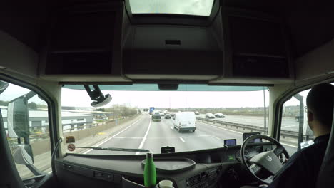
[[[128,117],[121,117],[115,120],[106,120],[103,122],[98,123],[90,123],[78,127],[72,127],[64,131],[63,136],[74,136],[76,140],[81,140],[84,137],[88,137],[91,135],[96,135],[98,132],[101,132],[103,130],[108,130],[111,127],[114,127],[116,125],[121,125],[124,122],[127,122],[128,120],[133,120],[134,118],[138,117],[140,114],[131,115]],[[8,138],[7,141],[9,142],[9,146],[11,147],[13,144],[17,144],[17,138]],[[50,137],[49,132],[41,133],[41,134],[35,134],[29,136],[30,145],[32,147],[34,155],[39,155],[41,153],[47,152],[50,150]]]

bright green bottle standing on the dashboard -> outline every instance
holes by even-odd
[[[146,153],[146,162],[144,167],[144,185],[153,188],[156,186],[156,165],[153,162],[153,153]]]

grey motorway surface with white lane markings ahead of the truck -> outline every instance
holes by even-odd
[[[163,146],[173,146],[176,148],[176,152],[182,152],[223,147],[223,140],[231,138],[236,138],[237,145],[241,145],[243,142],[241,132],[228,130],[225,127],[197,122],[195,132],[178,132],[178,130],[173,129],[173,120],[162,117],[161,122],[153,122],[151,121],[151,115],[145,113],[136,122],[123,127],[118,132],[113,132],[106,140],[95,146],[143,148],[153,153],[161,153],[161,147]],[[297,150],[293,145],[284,146],[290,154]],[[85,153],[106,155],[134,154],[134,152],[105,150],[88,150]]]

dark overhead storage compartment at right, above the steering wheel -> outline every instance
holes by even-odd
[[[283,18],[223,7],[223,76],[211,83],[293,81],[290,46]]]

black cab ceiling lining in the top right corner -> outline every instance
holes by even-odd
[[[225,0],[223,6],[266,12],[285,19],[293,57],[334,38],[334,1],[327,0]]]

